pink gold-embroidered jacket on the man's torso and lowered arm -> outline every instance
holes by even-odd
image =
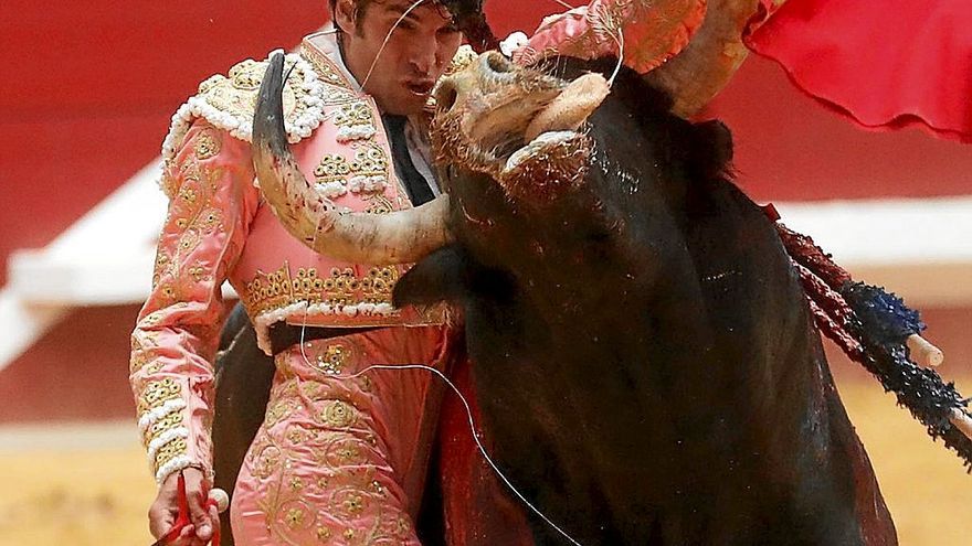
[[[324,49],[320,44],[324,43]],[[330,41],[330,44],[334,42]],[[338,207],[374,214],[409,207],[391,168],[371,97],[305,39],[284,90],[285,127],[308,180]],[[212,362],[229,279],[270,352],[277,321],[328,326],[422,325],[442,313],[394,309],[404,267],[346,264],[292,237],[254,185],[250,130],[266,63],[244,61],[200,85],[163,144],[170,197],[152,288],[131,334],[130,382],[156,479],[188,465],[211,470]]]

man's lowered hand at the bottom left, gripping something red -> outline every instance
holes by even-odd
[[[205,546],[213,537],[213,529],[220,525],[215,506],[207,508],[210,484],[202,471],[194,468],[182,470],[186,480],[186,500],[189,503],[189,525],[170,543],[173,546]],[[148,511],[148,528],[152,536],[161,538],[168,533],[179,516],[179,473],[173,472],[162,485]]]

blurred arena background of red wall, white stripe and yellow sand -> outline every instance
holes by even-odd
[[[199,82],[295,46],[326,3],[0,2],[0,545],[151,542],[127,375],[165,215],[160,143]],[[487,4],[501,35],[560,10]],[[972,148],[860,130],[754,56],[707,115],[735,131],[739,184],[920,308],[941,373],[972,393]],[[968,544],[959,459],[828,352],[901,544]]]

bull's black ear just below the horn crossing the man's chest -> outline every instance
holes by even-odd
[[[433,251],[395,282],[392,302],[400,308],[459,300],[466,292],[468,260],[458,245]]]

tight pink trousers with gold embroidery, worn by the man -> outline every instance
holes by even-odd
[[[385,328],[276,356],[230,517],[240,546],[419,545],[413,522],[443,385],[443,326]]]

